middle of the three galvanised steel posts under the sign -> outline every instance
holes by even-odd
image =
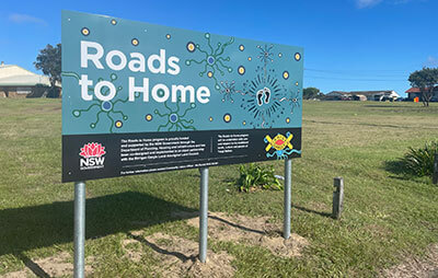
[[[208,167],[199,169],[200,198],[199,198],[199,260],[207,259],[207,230],[208,230]]]

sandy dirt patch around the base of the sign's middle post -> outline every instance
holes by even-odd
[[[208,250],[207,262],[203,264],[198,260],[197,242],[163,233],[146,238],[132,234],[130,236],[154,251],[160,266],[155,267],[152,276],[220,278],[234,275],[234,268],[231,266],[233,257],[226,252],[214,253]]]

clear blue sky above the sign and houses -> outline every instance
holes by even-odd
[[[395,90],[438,67],[436,0],[10,1],[0,8],[0,60],[35,71],[60,43],[61,10],[304,47],[304,86]]]

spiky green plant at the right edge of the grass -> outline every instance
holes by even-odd
[[[417,176],[431,175],[434,172],[434,158],[438,153],[438,141],[425,143],[424,148],[410,148],[401,159],[403,167],[410,174]]]

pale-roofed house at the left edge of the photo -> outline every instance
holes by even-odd
[[[0,63],[0,97],[39,97],[47,94],[49,86],[48,77],[15,65]]]

